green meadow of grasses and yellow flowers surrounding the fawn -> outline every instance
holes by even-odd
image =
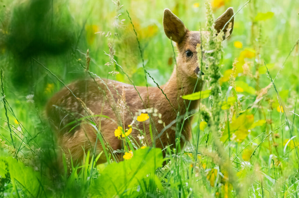
[[[0,0],[0,197],[299,197],[298,5]],[[222,42],[213,22],[228,7],[234,27]],[[165,8],[189,30],[208,31],[197,48],[202,92],[181,96],[201,100],[183,116],[193,115],[192,138],[178,146],[178,116],[176,145],[165,145],[165,158],[142,142],[144,130],[138,146],[132,128],[120,137],[120,127],[122,150],[67,159],[45,115],[47,101],[87,77],[165,84],[177,57],[163,29]],[[107,162],[97,164],[105,153]]]

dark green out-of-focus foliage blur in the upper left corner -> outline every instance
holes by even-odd
[[[2,46],[13,54],[13,84],[31,86],[39,65],[36,59],[63,55],[76,43],[75,27],[67,1],[27,0],[15,4],[7,15]],[[47,56],[50,55],[50,56]],[[39,70],[42,71],[42,70]]]

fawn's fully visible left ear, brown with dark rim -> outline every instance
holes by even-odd
[[[166,36],[174,42],[180,42],[188,31],[181,19],[169,9],[164,10],[163,26]]]

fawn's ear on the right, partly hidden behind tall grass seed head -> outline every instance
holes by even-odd
[[[228,8],[221,16],[219,16],[216,21],[215,21],[215,26],[214,28],[216,29],[217,33],[219,33],[222,28],[224,27],[224,25],[229,21],[229,19],[231,19],[231,17],[234,15],[234,10],[232,7]],[[228,31],[228,26],[229,23],[231,23],[231,29]],[[225,28],[223,29],[224,32],[224,36],[223,39],[228,38],[228,36],[231,35],[231,33],[233,32],[233,28],[234,28],[234,17],[231,19],[231,21],[229,22]]]

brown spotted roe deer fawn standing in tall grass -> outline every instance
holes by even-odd
[[[233,16],[232,8],[228,8],[225,13],[215,21],[215,29],[220,32],[228,20]],[[234,19],[231,19],[232,28],[227,34],[227,38],[233,29]],[[181,95],[191,94],[202,89],[203,81],[198,78],[199,67],[197,63],[196,45],[200,44],[200,32],[189,31],[184,23],[170,10],[164,10],[163,17],[164,32],[169,39],[176,42],[179,54],[176,59],[176,66],[167,83],[158,87],[134,87],[129,84],[120,83],[114,80],[101,80],[100,78],[78,80],[63,88],[54,95],[46,107],[47,116],[51,124],[58,131],[58,140],[67,157],[73,160],[82,160],[87,150],[94,150],[100,153],[103,146],[97,140],[97,130],[101,137],[112,150],[122,149],[123,141],[115,136],[115,129],[118,126],[128,126],[133,121],[133,115],[140,109],[152,107],[161,113],[161,120],[170,124],[179,115],[186,113],[184,100]],[[225,27],[227,28],[228,25]],[[205,32],[202,32],[205,33]],[[201,75],[201,74],[200,74]],[[136,91],[137,90],[137,91]],[[141,100],[142,98],[142,100]],[[122,101],[124,108],[118,111],[117,103]],[[186,103],[189,101],[186,101]],[[171,104],[172,105],[171,105]],[[190,101],[189,109],[195,109],[199,100]],[[92,116],[90,116],[92,115]],[[106,117],[103,117],[104,115]],[[92,117],[93,124],[85,121],[83,117]],[[135,122],[139,129],[145,127],[145,139],[150,146],[152,144],[149,134],[149,125],[155,127],[153,136],[159,139],[155,141],[155,146],[162,148],[163,145],[175,144],[176,134],[171,128],[163,130],[163,124],[158,123],[160,118],[151,116],[145,122]],[[96,124],[96,126],[94,125]],[[144,126],[143,126],[144,124]],[[184,122],[182,131],[182,141],[190,139],[190,121]],[[133,138],[138,139],[139,131],[134,129],[131,132]],[[97,143],[97,145],[96,145]],[[112,151],[111,150],[111,151]],[[110,152],[111,152],[110,151]],[[118,159],[122,159],[117,154]],[[102,155],[97,163],[106,161],[106,156]]]

